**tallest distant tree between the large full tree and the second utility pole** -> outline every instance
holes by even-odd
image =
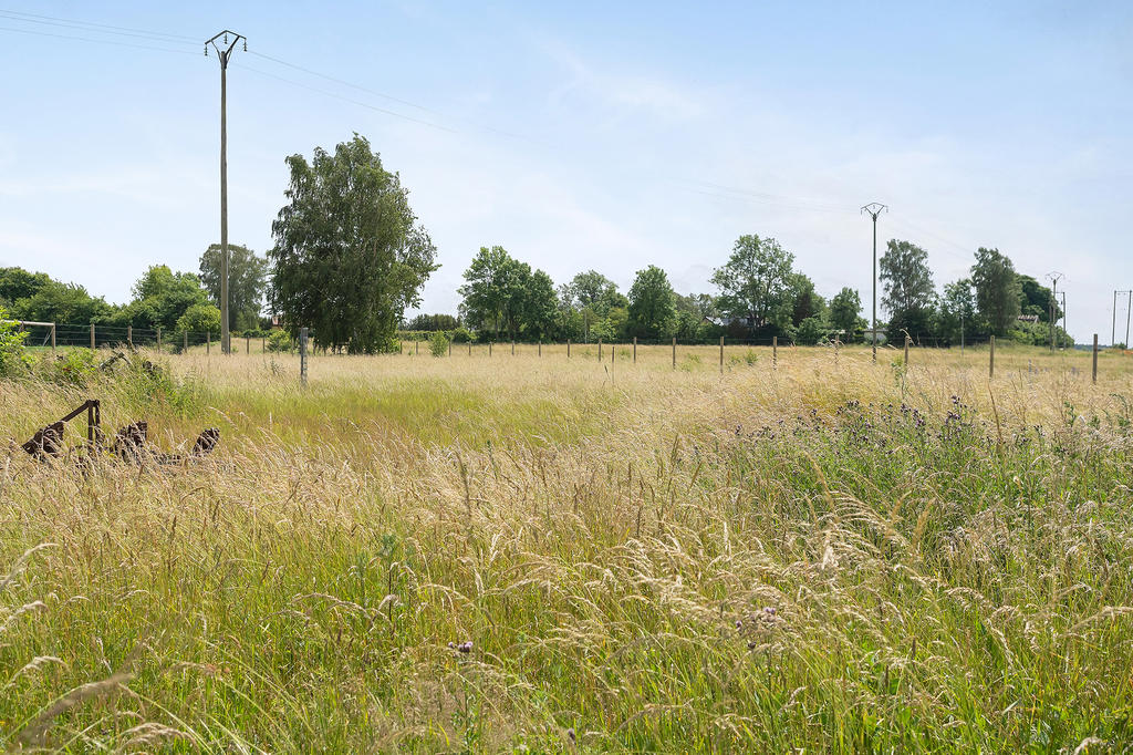
[[[712,282],[721,290],[721,311],[748,319],[753,328],[781,324],[793,304],[787,302],[793,264],[794,255],[774,238],[741,236],[727,263],[713,271]]]

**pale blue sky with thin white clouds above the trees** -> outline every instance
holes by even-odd
[[[919,244],[938,287],[980,246],[1063,273],[1079,342],[1133,288],[1131,2],[0,0],[0,265],[116,303],[197,271],[224,28],[230,241],[271,248],[284,159],[358,133],[437,247],[426,312],[482,246],[691,294],[757,234],[868,316],[869,202],[879,254]]]

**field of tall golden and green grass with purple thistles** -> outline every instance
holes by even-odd
[[[0,744],[1133,747],[1133,358],[606,349],[0,381]]]

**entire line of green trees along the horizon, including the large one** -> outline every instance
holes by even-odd
[[[458,289],[459,312],[417,315],[420,292],[436,269],[436,248],[409,205],[400,176],[387,171],[369,142],[355,134],[333,152],[316,147],[308,161],[287,158],[286,204],[272,223],[265,256],[230,245],[230,322],[235,332],[264,329],[275,315],[289,330],[312,329],[315,345],[372,354],[397,348],[399,329],[446,331],[460,340],[736,339],[818,343],[869,338],[857,290],[828,299],[775,238],[740,236],[707,281],[712,291],[679,294],[667,273],[648,265],[624,294],[588,270],[556,286],[545,271],[502,246],[474,255]],[[879,260],[881,330],[938,345],[1007,336],[1046,343],[1062,312],[1050,289],[1015,271],[996,248],[977,249],[970,274],[939,290],[928,253],[892,239]],[[9,316],[60,323],[220,330],[220,248],[212,245],[197,273],[153,265],[113,305],[82,286],[20,268],[0,269],[0,306]],[[1023,315],[1023,317],[1021,317]],[[1056,329],[1059,343],[1070,342]]]

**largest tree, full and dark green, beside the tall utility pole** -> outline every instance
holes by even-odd
[[[407,307],[437,269],[436,248],[409,206],[397,173],[355,134],[310,163],[287,159],[288,204],[272,223],[271,304],[291,330],[313,329],[316,346],[373,354],[394,347]]]

